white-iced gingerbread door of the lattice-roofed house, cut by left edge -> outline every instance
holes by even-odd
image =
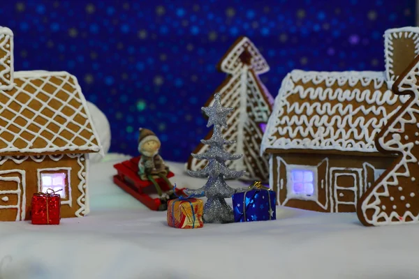
[[[19,221],[26,216],[24,171],[0,171],[0,221]]]

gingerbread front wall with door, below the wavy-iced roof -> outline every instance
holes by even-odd
[[[322,212],[355,212],[362,193],[391,163],[392,157],[345,156],[317,153],[272,154],[270,187],[280,205]],[[312,169],[315,194],[297,197],[292,193],[291,169]],[[297,198],[296,198],[297,197]]]

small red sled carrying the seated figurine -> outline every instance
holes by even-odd
[[[156,189],[151,181],[142,180],[138,176],[138,162],[141,156],[131,158],[122,163],[114,165],[117,169],[118,174],[113,177],[113,181],[117,186],[122,188],[126,193],[138,199],[142,204],[147,206],[149,209],[158,211],[161,209],[161,200],[159,197],[152,198],[150,194],[156,193]],[[172,172],[168,173],[168,178],[175,176]],[[171,190],[163,179],[155,179],[163,192]],[[176,188],[177,195],[184,195],[182,189]]]

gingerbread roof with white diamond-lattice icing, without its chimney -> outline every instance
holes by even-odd
[[[66,72],[15,72],[0,89],[0,154],[98,152],[78,81]]]

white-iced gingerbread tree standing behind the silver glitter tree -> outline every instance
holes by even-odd
[[[230,160],[226,164],[230,169],[244,170],[244,180],[267,181],[269,165],[267,156],[260,156],[265,123],[272,112],[272,96],[260,82],[258,75],[269,70],[263,56],[248,38],[239,38],[217,68],[228,74],[227,79],[216,89],[221,96],[221,103],[233,107],[234,113],[228,116],[228,127],[223,128],[226,140],[235,141],[228,146],[230,153],[244,154],[240,160]],[[205,104],[212,105],[214,98]],[[208,134],[206,139],[210,138]],[[205,153],[209,146],[199,144],[193,153]],[[207,160],[189,158],[187,169],[199,170],[207,165]]]

